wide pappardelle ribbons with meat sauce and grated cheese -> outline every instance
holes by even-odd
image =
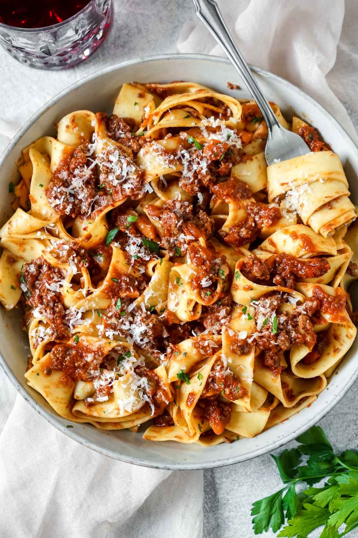
[[[310,153],[267,167],[257,104],[192,82],[123,84],[24,148],[0,301],[59,415],[208,447],[325,389],[356,335],[355,207],[338,155],[271,106]]]

